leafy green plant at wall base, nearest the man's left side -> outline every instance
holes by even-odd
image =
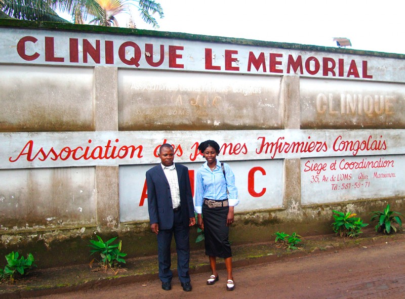
[[[100,253],[100,264],[105,270],[107,270],[108,266],[114,268],[117,267],[119,263],[126,263],[123,257],[126,257],[127,253],[121,252],[121,241],[119,241],[118,244],[111,244],[117,237],[109,239],[106,242],[104,242],[100,236],[96,235],[96,237],[98,241],[90,240],[91,244],[89,246],[94,248],[90,250],[90,252],[91,254],[96,252]]]

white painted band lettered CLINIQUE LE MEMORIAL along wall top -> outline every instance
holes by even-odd
[[[402,59],[140,35],[2,28],[0,49],[0,63],[405,81]]]

